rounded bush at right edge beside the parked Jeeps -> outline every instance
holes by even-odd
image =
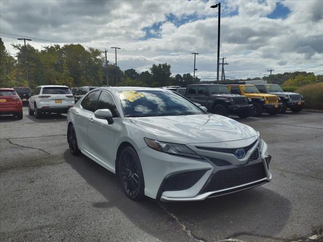
[[[304,108],[323,109],[323,83],[315,83],[303,86],[295,91],[306,100]]]

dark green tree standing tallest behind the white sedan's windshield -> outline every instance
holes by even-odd
[[[169,86],[171,83],[171,65],[167,63],[152,65],[150,68],[153,84],[152,86]]]

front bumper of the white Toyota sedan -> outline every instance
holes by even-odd
[[[258,144],[259,142],[255,144],[250,151],[253,153],[255,150],[261,148],[257,160],[252,162],[246,161],[242,165],[232,163],[229,166],[217,166],[209,160],[200,161],[180,156],[169,155],[152,150],[148,147],[139,149],[137,152],[140,157],[144,174],[145,195],[160,201],[197,201],[204,200],[208,197],[226,195],[265,184],[272,179],[272,174],[268,170],[267,161],[265,159],[266,157],[268,157],[267,145],[263,142],[263,145],[261,147],[258,147]],[[203,156],[204,155],[217,156],[217,152],[205,151]],[[248,157],[246,158],[249,159]],[[229,172],[230,174],[230,172],[235,169],[237,170],[241,167],[248,169],[253,165],[263,167],[263,176],[255,179],[251,178],[251,180],[250,178],[248,178],[248,182],[236,184],[236,186],[228,185],[225,189],[210,191],[209,186],[211,180],[213,178],[217,178],[218,174],[221,174],[221,172]],[[193,172],[193,174],[194,172],[202,172],[202,175],[196,181],[194,181],[194,184],[192,186],[184,190],[181,189],[176,191],[174,189],[166,189],[166,187],[168,186],[166,184],[168,183],[170,177],[175,177],[174,180],[175,182],[177,182],[180,178],[180,176],[176,176],[177,174],[182,175],[188,172]],[[242,176],[246,174],[248,175],[248,173],[244,172]],[[250,174],[250,177],[251,175],[252,174]],[[185,179],[190,180],[193,179],[193,177]]]

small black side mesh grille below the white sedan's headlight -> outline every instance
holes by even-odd
[[[167,178],[164,191],[186,190],[194,186],[207,170],[192,170],[171,175]]]

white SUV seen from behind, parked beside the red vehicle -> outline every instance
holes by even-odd
[[[74,105],[74,97],[67,86],[42,85],[36,87],[34,95],[29,98],[29,115],[35,113],[40,118],[42,113],[67,113]]]

